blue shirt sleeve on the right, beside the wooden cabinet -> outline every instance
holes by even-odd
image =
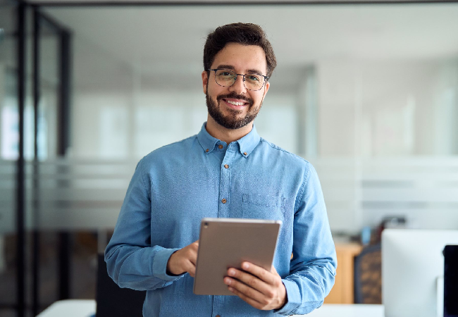
[[[276,313],[305,314],[323,304],[334,285],[337,257],[316,170],[308,164],[295,204],[290,275],[283,278],[287,304]]]

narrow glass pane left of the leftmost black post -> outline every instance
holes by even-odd
[[[19,141],[17,13],[15,4],[0,1],[0,316],[15,316],[20,282],[16,274],[15,223]]]

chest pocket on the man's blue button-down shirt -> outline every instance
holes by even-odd
[[[283,220],[286,198],[262,194],[243,194],[242,217]]]

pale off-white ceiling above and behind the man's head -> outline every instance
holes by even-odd
[[[285,89],[307,66],[323,61],[458,56],[458,4],[453,3],[49,6],[43,11],[75,35],[77,85],[132,85],[135,77],[147,85],[164,78],[200,85],[206,35],[233,22],[264,27],[278,59],[272,82]]]

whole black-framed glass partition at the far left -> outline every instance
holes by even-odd
[[[68,232],[40,216],[40,165],[68,147],[70,33],[25,3],[0,8],[0,316],[36,316],[70,297]]]

